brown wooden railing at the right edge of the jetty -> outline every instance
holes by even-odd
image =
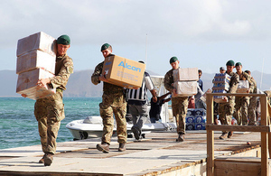
[[[260,132],[261,133],[261,175],[269,175],[268,171],[268,133],[270,126],[267,123],[266,94],[226,94],[235,97],[259,97],[261,104],[261,124],[251,125],[213,125],[213,96],[225,96],[222,93],[207,93],[207,176],[214,176],[214,133],[213,131]],[[269,136],[270,137],[270,136]]]

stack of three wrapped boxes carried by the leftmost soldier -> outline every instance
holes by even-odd
[[[54,76],[56,46],[55,39],[44,32],[20,39],[17,43],[18,74],[16,93],[25,94],[31,99],[49,97],[55,94],[55,88],[39,88],[39,79]]]

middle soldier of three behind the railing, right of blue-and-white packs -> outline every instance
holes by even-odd
[[[240,80],[248,80],[248,93],[253,91],[253,82],[251,81],[248,73],[242,71],[242,64],[237,62],[235,64],[235,69],[237,70],[237,74]],[[238,125],[248,125],[248,104],[249,97],[236,97],[235,98],[235,113],[234,117],[237,120]]]

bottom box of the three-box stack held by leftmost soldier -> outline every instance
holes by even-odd
[[[53,74],[44,69],[23,72],[18,75],[16,93],[26,94],[27,97],[32,99],[52,96],[56,92],[55,88],[38,88],[36,85],[39,79],[51,77],[53,77]]]

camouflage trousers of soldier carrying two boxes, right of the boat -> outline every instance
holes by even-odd
[[[176,119],[177,133],[185,134],[185,116],[188,107],[188,97],[172,98],[173,116]]]

